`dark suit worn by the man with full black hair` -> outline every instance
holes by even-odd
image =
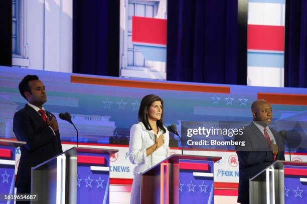
[[[46,111],[47,116],[54,116]],[[14,115],[13,131],[19,141],[26,141],[21,146],[21,157],[17,171],[16,186],[31,185],[31,167],[63,152],[60,133],[52,129],[43,120],[39,112],[28,104]]]

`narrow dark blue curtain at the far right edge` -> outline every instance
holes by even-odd
[[[307,0],[286,0],[284,86],[307,87]]]

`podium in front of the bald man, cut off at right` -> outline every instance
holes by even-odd
[[[256,203],[307,203],[307,162],[277,160],[249,179],[249,200]]]

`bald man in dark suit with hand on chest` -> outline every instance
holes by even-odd
[[[236,146],[239,158],[238,202],[249,203],[249,178],[275,160],[284,160],[281,135],[269,127],[272,121],[272,107],[266,100],[252,103],[253,121],[245,126],[242,135],[236,135],[236,141],[245,141],[244,146]]]

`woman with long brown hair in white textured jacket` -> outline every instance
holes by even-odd
[[[163,100],[157,95],[145,95],[138,110],[138,123],[130,129],[129,159],[137,164],[130,204],[140,203],[140,174],[169,155],[169,131],[163,125]]]

